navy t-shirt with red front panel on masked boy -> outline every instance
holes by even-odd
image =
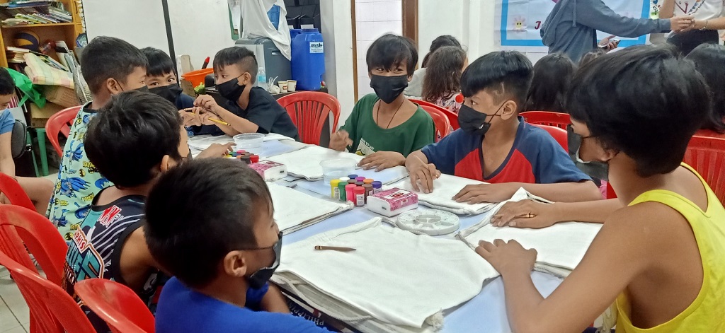
[[[591,180],[571,161],[564,148],[539,127],[527,124],[519,117],[513,147],[500,167],[484,177],[481,143],[483,135],[456,130],[439,143],[421,150],[428,162],[444,174],[452,174],[489,183],[524,182],[553,184]]]

